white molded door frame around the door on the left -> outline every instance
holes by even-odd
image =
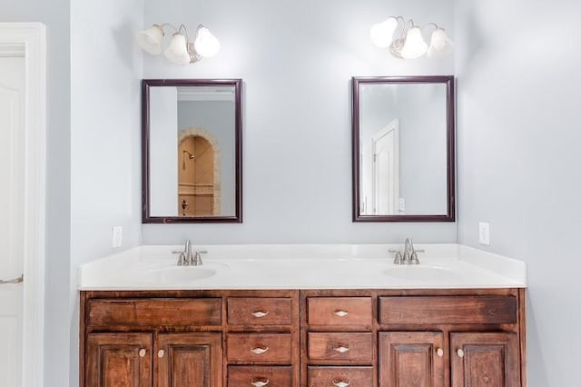
[[[44,385],[68,385],[70,242],[69,0],[0,0],[0,22],[42,22],[47,43]]]

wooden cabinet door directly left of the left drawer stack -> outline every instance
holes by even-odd
[[[155,351],[158,387],[222,386],[222,333],[162,333]]]

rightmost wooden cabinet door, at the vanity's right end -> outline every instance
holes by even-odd
[[[451,333],[452,387],[519,387],[516,333]]]

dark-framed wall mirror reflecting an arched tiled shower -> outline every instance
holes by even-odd
[[[241,223],[241,80],[144,79],[143,223]]]

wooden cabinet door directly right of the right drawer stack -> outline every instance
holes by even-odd
[[[444,387],[442,332],[379,332],[379,386]]]

